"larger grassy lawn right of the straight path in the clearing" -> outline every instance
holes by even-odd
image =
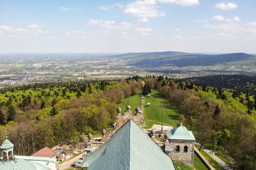
[[[144,129],[150,129],[153,124],[160,124],[162,121],[162,102],[166,104],[167,107],[163,108],[163,125],[166,126],[176,126],[180,122],[180,112],[174,108],[170,107],[171,104],[166,99],[158,97],[158,92],[152,90],[150,97],[145,97],[144,101],[144,120],[145,123],[142,125]],[[150,106],[147,106],[150,103]],[[145,124],[147,123],[147,127]]]

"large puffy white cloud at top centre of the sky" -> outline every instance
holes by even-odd
[[[155,9],[155,4],[157,4],[157,1],[155,0],[136,0],[131,4],[127,4],[123,13],[138,17],[165,16],[165,13]]]

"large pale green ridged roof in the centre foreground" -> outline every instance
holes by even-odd
[[[84,158],[87,170],[175,170],[172,159],[131,119]]]

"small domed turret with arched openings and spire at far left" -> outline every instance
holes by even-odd
[[[7,139],[7,134],[5,132],[5,140],[0,146],[1,154],[3,156],[3,161],[11,161],[14,160],[14,154],[13,154],[13,144]]]

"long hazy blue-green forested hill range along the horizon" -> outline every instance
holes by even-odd
[[[114,58],[131,60],[131,65],[134,66],[214,66],[215,64],[225,64],[228,62],[247,61],[247,64],[255,66],[256,56],[245,53],[207,55],[193,54],[175,51],[166,52],[142,52],[142,53],[127,53],[115,55]]]

